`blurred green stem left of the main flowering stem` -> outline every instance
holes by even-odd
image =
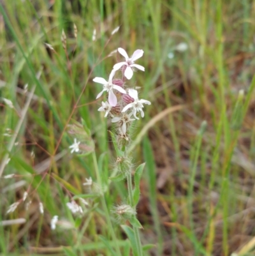
[[[100,176],[100,173],[99,173],[98,162],[96,160],[96,153],[95,152],[92,153],[92,157],[93,157],[94,168],[96,170],[96,177],[98,179],[99,186],[100,186],[101,189],[103,189],[103,183],[102,183],[101,176]],[[106,221],[108,223],[108,227],[110,228],[110,232],[112,234],[112,239],[113,239],[113,241],[116,245],[118,255],[121,256],[122,254],[120,253],[119,244],[118,244],[118,241],[117,241],[117,237],[115,236],[115,232],[113,230],[112,221],[111,221],[110,214],[109,214],[109,211],[108,211],[108,207],[107,207],[107,204],[106,204],[105,193],[100,192],[100,197],[101,197],[101,202],[103,204],[103,209],[105,211]]]

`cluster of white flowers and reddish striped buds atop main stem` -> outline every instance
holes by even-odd
[[[112,123],[117,123],[119,127],[119,135],[125,140],[126,132],[132,121],[139,119],[136,114],[143,113],[143,104],[150,105],[148,100],[139,100],[138,91],[136,89],[126,88],[125,80],[133,77],[135,70],[145,71],[145,68],[135,61],[143,56],[143,50],[135,50],[131,57],[128,56],[126,50],[118,48],[118,52],[125,58],[125,61],[117,63],[113,66],[108,81],[102,77],[95,77],[94,82],[103,85],[103,90],[96,97],[97,99],[103,94],[104,91],[108,93],[108,102],[102,102],[98,111],[105,112],[105,117],[110,116]],[[122,79],[114,79],[117,70],[122,72]]]

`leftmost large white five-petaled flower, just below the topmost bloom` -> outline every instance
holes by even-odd
[[[115,84],[112,83],[112,79],[113,79],[113,76],[115,75],[115,72],[116,72],[116,70],[112,70],[112,72],[110,73],[108,82],[105,79],[103,79],[102,77],[95,77],[93,79],[94,82],[103,84],[103,91],[101,91],[101,93],[99,93],[98,96],[96,96],[96,98],[99,98],[103,94],[104,91],[107,91],[109,93],[108,102],[110,103],[110,105],[112,107],[115,107],[117,105],[117,97],[113,93],[113,89],[116,89],[120,93],[126,94],[126,91],[122,87],[116,86]]]

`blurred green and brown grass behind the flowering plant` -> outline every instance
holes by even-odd
[[[145,73],[128,84],[152,102],[133,134],[134,160],[147,162],[137,209],[142,243],[157,245],[147,255],[255,255],[254,1],[0,4],[2,163],[10,151],[0,173],[0,255],[112,255],[98,238],[108,233],[103,213],[89,211],[80,220],[66,207],[70,193],[85,193],[85,177],[95,177],[91,156],[69,153],[66,126],[86,121],[110,176],[110,123],[97,111],[101,86],[92,79],[108,77],[117,61],[108,55],[117,47],[145,52],[139,59]],[[4,179],[8,174],[15,177]],[[109,207],[126,196],[122,183],[111,188]],[[29,209],[22,202],[6,215],[25,191]],[[54,215],[60,227],[50,230]],[[15,218],[26,222],[3,226]]]

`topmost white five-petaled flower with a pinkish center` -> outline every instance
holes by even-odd
[[[126,61],[117,63],[113,66],[113,70],[119,70],[122,66],[126,65],[126,70],[124,72],[124,76],[127,79],[131,79],[133,77],[132,68],[137,68],[138,70],[144,71],[145,68],[141,65],[135,64],[136,59],[139,59],[143,56],[143,50],[135,50],[133,55],[129,58],[126,50],[122,48],[118,48],[119,53],[125,57]]]

